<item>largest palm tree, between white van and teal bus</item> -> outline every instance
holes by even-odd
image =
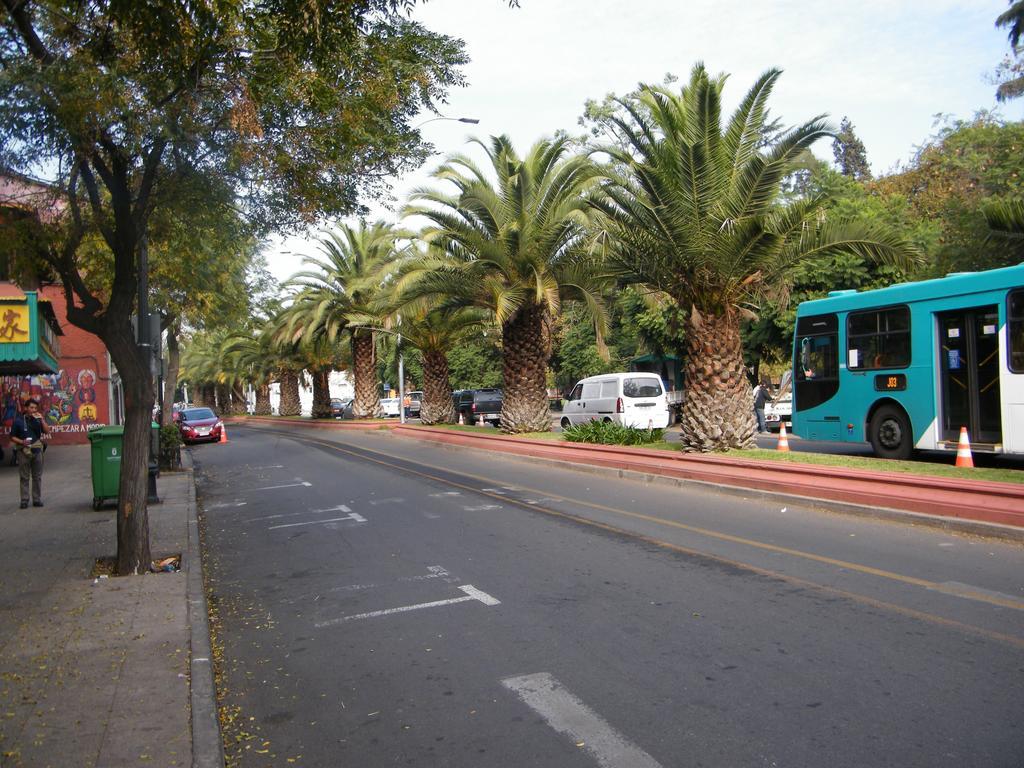
[[[683,444],[746,447],[757,429],[743,367],[740,318],[785,286],[798,262],[850,252],[907,262],[916,252],[881,227],[831,221],[823,197],[782,207],[780,182],[800,156],[830,136],[815,118],[764,143],[767,100],[780,72],[754,84],[722,124],[725,76],[697,65],[681,92],[644,86],[612,118],[615,168],[595,202],[610,262],[628,282],[662,292],[687,316]]]

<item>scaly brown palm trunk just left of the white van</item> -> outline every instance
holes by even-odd
[[[522,307],[502,327],[505,387],[502,399],[503,432],[550,432],[547,375],[551,331],[547,310],[537,304]]]

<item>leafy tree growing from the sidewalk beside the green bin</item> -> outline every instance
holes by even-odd
[[[262,226],[342,215],[425,156],[410,127],[461,82],[460,42],[408,17],[414,0],[2,0],[0,165],[48,175],[69,216],[48,258],[68,317],[109,349],[125,392],[119,573],[150,567],[146,446],[154,385],[132,335],[155,212],[197,178]],[[113,280],[92,290],[96,236]]]

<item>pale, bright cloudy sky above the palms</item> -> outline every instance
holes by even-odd
[[[995,17],[1006,0],[428,0],[413,16],[434,32],[461,38],[468,85],[454,90],[443,115],[478,125],[433,121],[424,138],[437,155],[394,179],[399,201],[429,183],[443,156],[472,150],[466,139],[508,134],[525,150],[577,124],[588,98],[660,83],[667,73],[688,79],[697,61],[729,73],[728,109],[765,70],[783,71],[769,101],[785,125],[826,114],[848,117],[876,175],[906,164],[936,130],[936,116],[970,119],[995,109],[989,82],[1009,52]],[[824,9],[824,10],[823,10]],[[999,105],[1007,120],[1024,119],[1024,99]],[[431,118],[429,114],[424,120]],[[831,145],[814,147],[831,159]],[[395,220],[371,206],[371,218]],[[272,241],[271,273],[285,281],[315,255],[316,229]]]

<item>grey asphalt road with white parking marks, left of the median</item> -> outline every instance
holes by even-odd
[[[383,433],[194,456],[239,765],[1024,763],[1018,545]]]

